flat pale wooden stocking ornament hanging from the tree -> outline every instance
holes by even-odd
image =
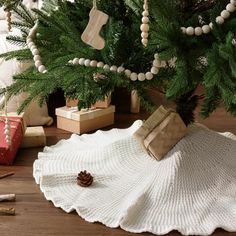
[[[81,36],[82,41],[95,49],[103,49],[105,47],[105,40],[99,33],[102,26],[107,23],[107,20],[108,15],[97,9],[96,0],[94,0],[93,8],[89,13],[89,23]]]

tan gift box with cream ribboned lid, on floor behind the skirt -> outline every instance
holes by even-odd
[[[57,128],[72,133],[86,133],[114,124],[114,113],[115,106],[87,111],[78,111],[66,106],[57,108]]]

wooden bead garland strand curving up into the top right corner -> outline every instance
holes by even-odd
[[[230,14],[236,10],[236,0],[230,0],[229,4],[225,7],[225,9],[220,13],[219,16],[216,17],[216,23],[221,25],[225,22],[227,18],[230,17]],[[202,34],[208,34],[213,29],[213,23],[210,22],[209,25],[203,25],[202,27],[181,27],[181,31],[183,34],[189,36],[200,36]]]

